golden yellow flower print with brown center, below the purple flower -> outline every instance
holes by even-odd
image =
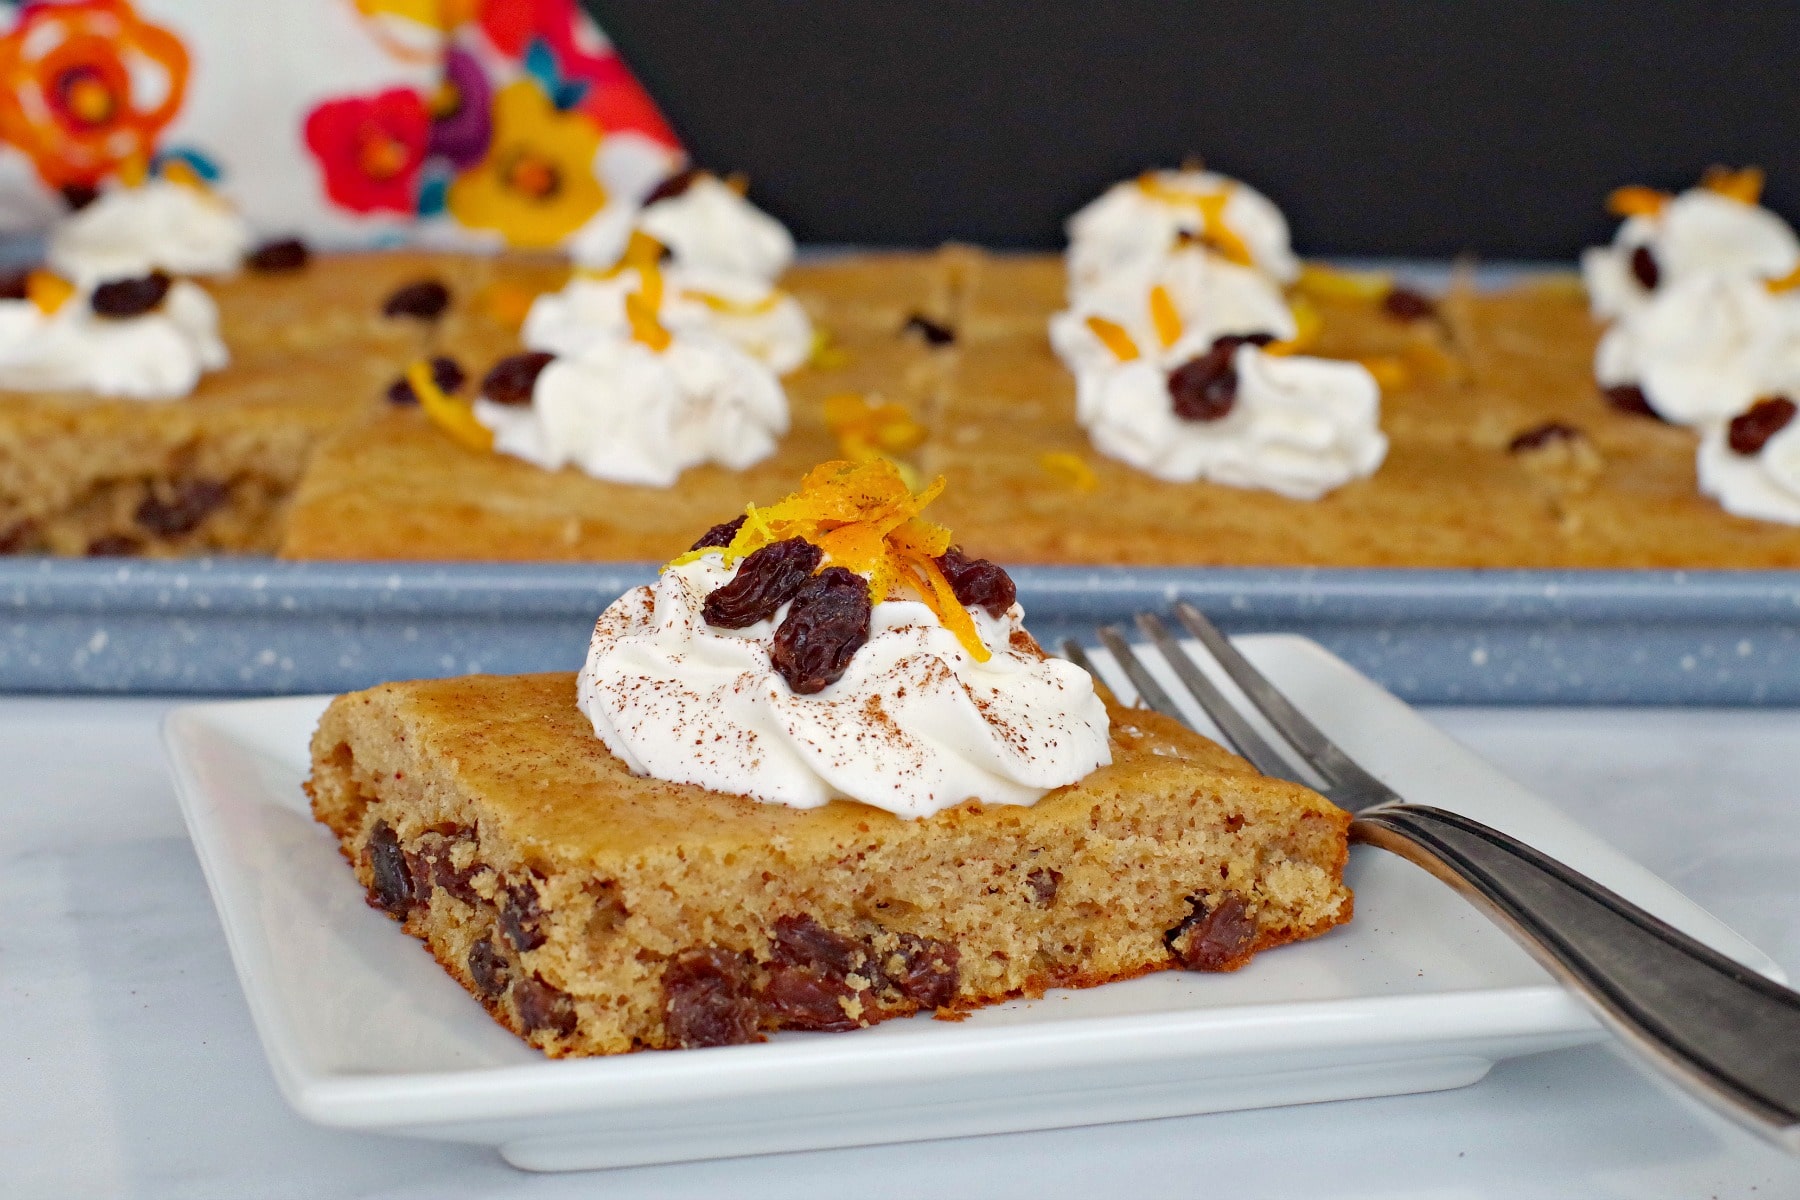
[[[529,79],[511,83],[493,97],[488,157],[450,184],[450,214],[515,246],[554,246],[607,203],[594,178],[598,149],[599,130],[587,117],[558,112]]]

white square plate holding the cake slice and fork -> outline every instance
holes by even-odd
[[[1238,644],[1402,795],[1507,829],[1764,973],[1775,964],[1316,644]],[[1355,919],[1233,975],[1163,972],[763,1045],[551,1061],[364,891],[301,793],[322,696],[191,705],[166,739],[238,979],[288,1101],[322,1124],[574,1169],[1096,1124],[1474,1083],[1598,1040],[1449,889],[1357,847]]]

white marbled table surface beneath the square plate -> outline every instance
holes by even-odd
[[[535,1177],[486,1150],[315,1128],[277,1096],[232,977],[162,765],[169,703],[0,698],[9,1200],[1800,1196],[1800,1159],[1609,1047],[1501,1063],[1431,1096],[605,1175]],[[1800,979],[1800,712],[1429,716]]]

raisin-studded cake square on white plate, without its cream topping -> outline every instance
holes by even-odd
[[[553,1056],[954,1015],[1346,921],[1348,817],[1112,709],[1112,765],[904,820],[632,775],[572,675],[337,698],[308,792],[373,905]]]

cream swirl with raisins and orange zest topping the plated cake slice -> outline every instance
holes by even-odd
[[[1105,705],[1006,574],[918,520],[884,461],[828,462],[601,613],[580,676],[637,774],[900,817],[1031,804],[1111,761]]]

